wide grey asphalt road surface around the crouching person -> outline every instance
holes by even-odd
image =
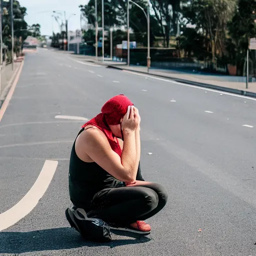
[[[29,191],[46,159],[58,166],[31,212],[0,232],[0,255],[256,255],[256,101],[77,61],[45,49],[26,56],[0,122],[0,213]],[[83,121],[55,115],[91,118],[119,93],[140,111],[144,178],[169,199],[148,220],[148,237],[86,242],[64,215]]]

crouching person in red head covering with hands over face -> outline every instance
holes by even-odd
[[[74,213],[82,209],[110,228],[150,233],[144,220],[164,207],[167,192],[142,178],[140,116],[125,95],[110,98],[78,132],[70,155],[69,195],[74,207],[66,209],[66,218],[78,231]]]

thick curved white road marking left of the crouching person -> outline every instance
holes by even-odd
[[[30,190],[10,209],[0,214],[0,231],[26,216],[47,190],[56,171],[58,161],[45,160],[42,170]]]

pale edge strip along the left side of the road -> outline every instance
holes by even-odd
[[[14,89],[15,89],[15,87],[17,85],[17,82],[18,82],[19,76],[21,74],[23,65],[24,65],[24,59],[22,60],[20,66],[17,68],[17,70],[11,76],[9,84],[7,85],[7,87],[10,86],[10,88],[9,88],[9,91],[8,91],[5,99],[3,100],[2,104],[0,104],[0,121],[1,121],[1,119],[3,117],[4,112],[7,109],[9,101],[10,101],[12,95],[13,95],[13,92],[14,92]]]

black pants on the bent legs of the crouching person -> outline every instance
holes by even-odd
[[[159,212],[167,202],[167,192],[158,183],[143,186],[106,188],[93,197],[94,209],[90,218],[100,218],[107,223],[127,226],[136,220],[145,220]]]

